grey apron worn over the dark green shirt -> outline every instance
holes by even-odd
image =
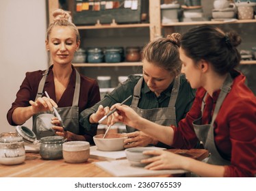
[[[170,94],[170,101],[168,107],[165,108],[151,108],[151,109],[142,109],[138,108],[138,102],[140,100],[140,92],[142,88],[143,77],[138,80],[138,83],[133,90],[133,100],[131,101],[131,108],[133,108],[138,115],[149,121],[153,121],[162,126],[175,126],[177,127],[176,122],[176,113],[175,113],[175,103],[179,93],[179,84],[180,76],[175,78],[175,83],[172,87],[172,92]],[[134,132],[136,129],[129,126],[126,127],[127,132]]]

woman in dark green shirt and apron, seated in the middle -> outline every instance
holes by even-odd
[[[80,123],[90,127],[90,124],[97,123],[109,111],[109,106],[133,95],[125,104],[131,106],[138,115],[160,125],[177,126],[190,110],[195,94],[185,76],[180,74],[180,38],[179,33],[172,33],[167,38],[157,38],[146,44],[142,50],[143,76],[130,75],[124,83],[105,95],[103,100],[83,111]],[[155,136],[148,136],[129,126],[127,132],[125,148],[146,145],[169,148]]]

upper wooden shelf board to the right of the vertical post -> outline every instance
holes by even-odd
[[[175,27],[175,26],[187,26],[187,25],[222,25],[222,24],[238,24],[238,23],[256,23],[256,19],[251,20],[225,20],[225,21],[193,21],[193,22],[178,22],[170,24],[162,24],[162,27]]]

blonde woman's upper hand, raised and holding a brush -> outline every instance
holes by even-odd
[[[31,111],[34,114],[44,111],[53,111],[53,106],[57,108],[57,104],[47,97],[38,98],[35,102],[30,100],[29,104],[31,104]]]

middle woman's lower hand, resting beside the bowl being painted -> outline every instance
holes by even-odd
[[[129,147],[146,147],[149,144],[154,144],[154,138],[145,134],[144,132],[136,131],[127,133],[127,139],[125,139],[125,148]]]

